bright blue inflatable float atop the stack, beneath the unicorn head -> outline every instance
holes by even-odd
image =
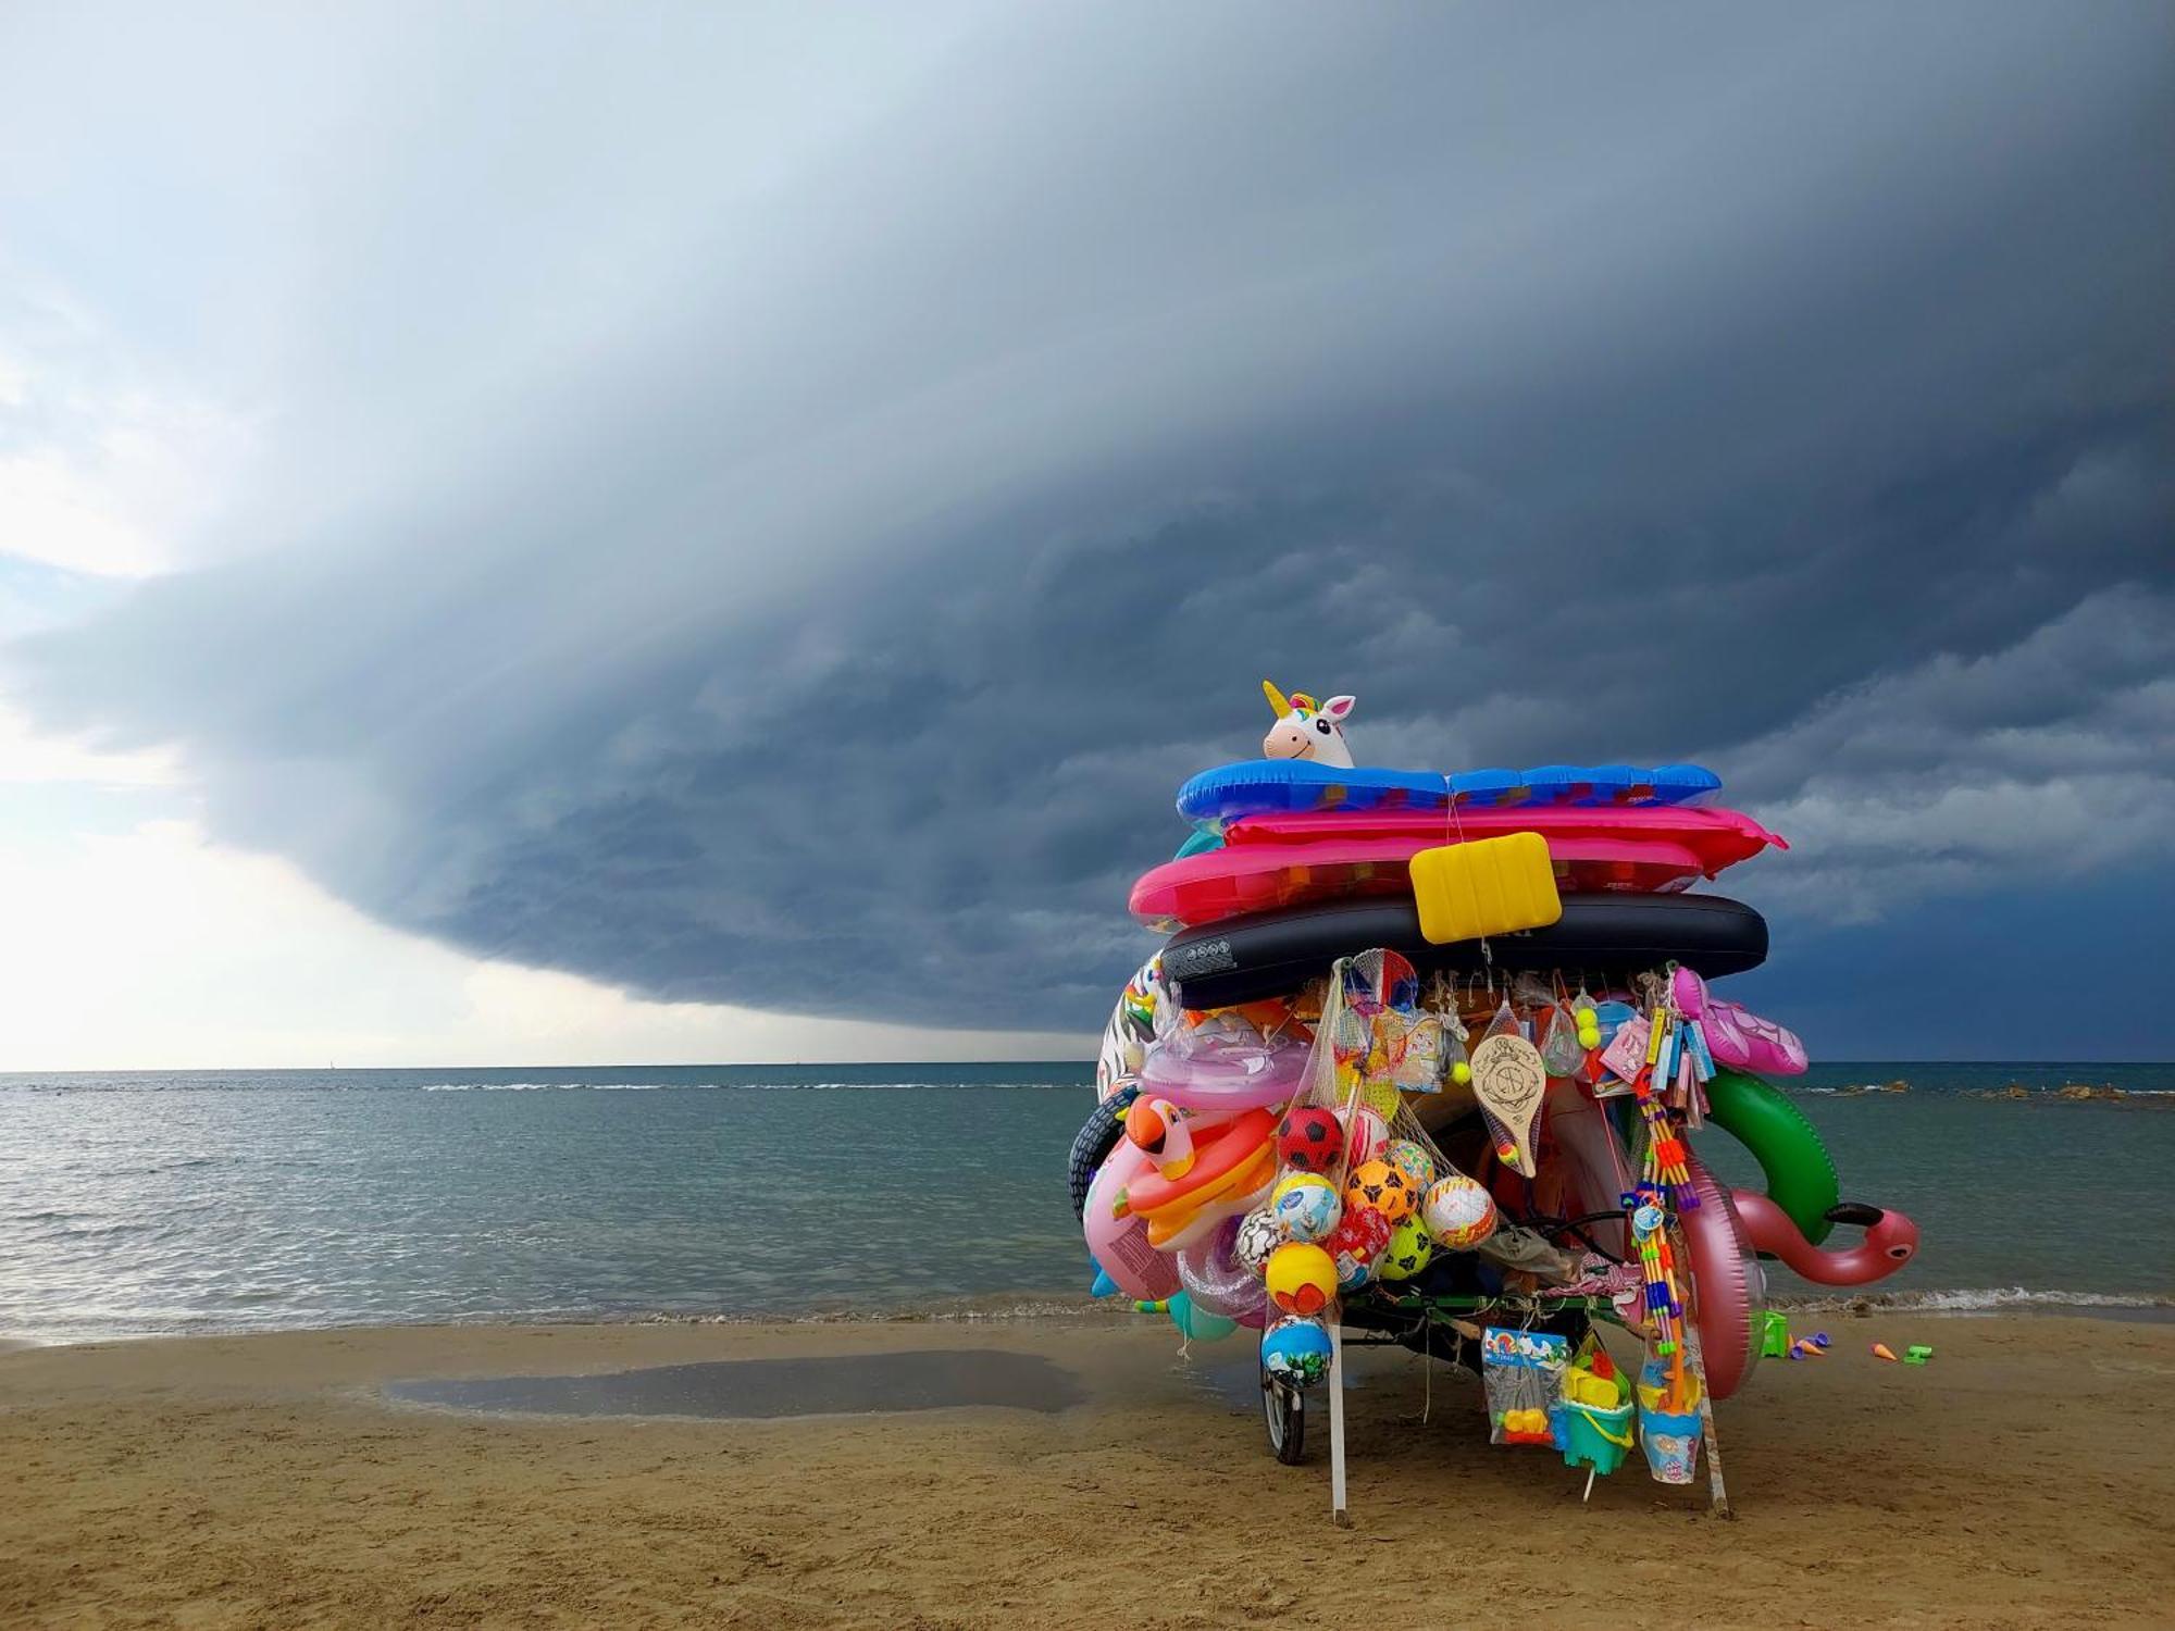
[[[1242,759],[1179,787],[1179,816],[1222,826],[1240,816],[1314,809],[1507,809],[1514,805],[1688,805],[1723,779],[1699,765],[1533,765],[1531,770],[1344,770],[1312,759]]]

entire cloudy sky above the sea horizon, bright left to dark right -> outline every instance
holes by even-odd
[[[0,11],[0,1063],[1085,1050],[1257,681],[2164,1057],[2175,11]]]

